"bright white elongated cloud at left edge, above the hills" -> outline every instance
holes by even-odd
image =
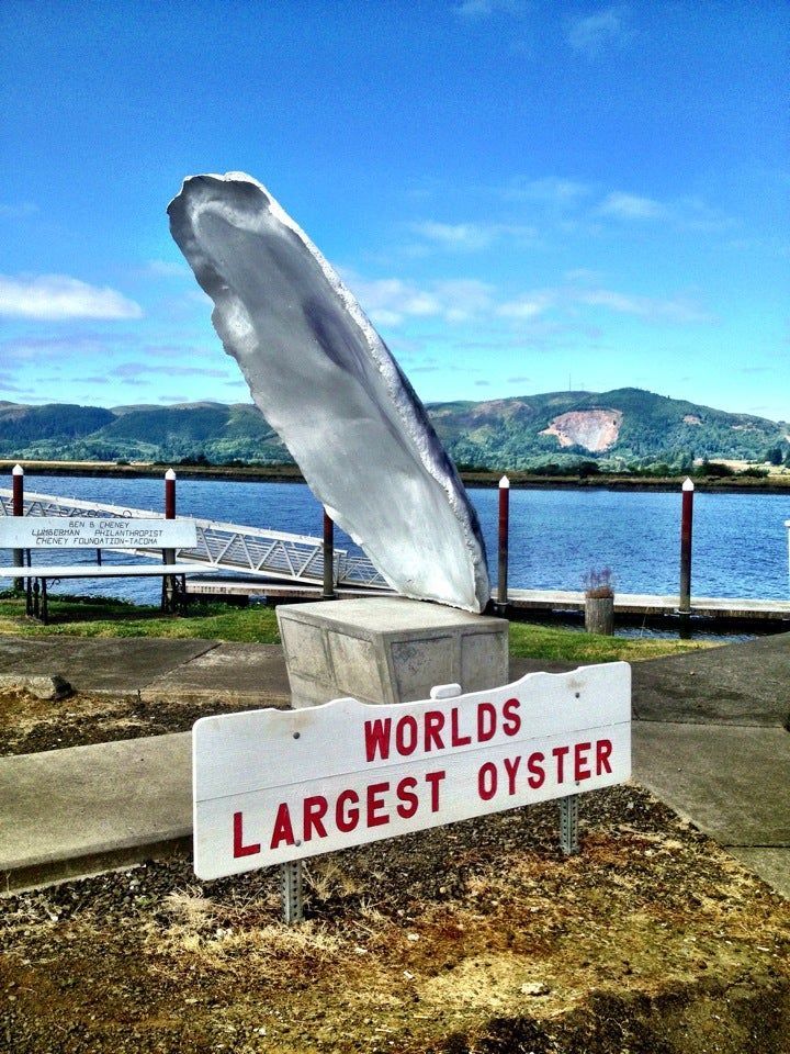
[[[0,274],[0,315],[21,318],[139,318],[143,309],[109,287],[66,274]]]

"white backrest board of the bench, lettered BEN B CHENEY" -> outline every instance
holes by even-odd
[[[7,549],[189,549],[196,545],[198,528],[189,519],[0,518],[0,548]]]

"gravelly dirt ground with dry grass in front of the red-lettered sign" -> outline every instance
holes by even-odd
[[[0,899],[14,1054],[788,1054],[790,905],[633,787],[279,872],[187,860]]]

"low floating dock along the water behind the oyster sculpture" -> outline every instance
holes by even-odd
[[[240,579],[188,579],[187,593],[202,597],[260,597],[275,602],[318,601],[321,587],[308,583],[266,582]],[[339,599],[353,596],[381,596],[383,590],[336,588]],[[564,590],[509,590],[508,608],[514,615],[545,614],[552,617],[584,612],[582,592]],[[623,620],[636,618],[662,619],[678,615],[677,594],[616,593],[614,616]],[[691,616],[716,623],[788,621],[790,601],[757,601],[751,597],[691,597]]]

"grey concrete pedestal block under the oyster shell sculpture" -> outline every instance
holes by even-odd
[[[427,699],[508,681],[508,623],[405,597],[363,597],[276,609],[291,705],[342,696],[362,703]]]

